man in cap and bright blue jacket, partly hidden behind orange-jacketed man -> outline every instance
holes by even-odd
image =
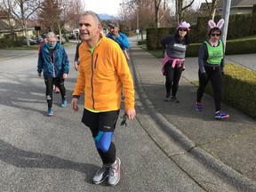
[[[123,50],[126,60],[130,60],[127,52],[127,50],[130,49],[127,36],[119,31],[119,24],[116,21],[111,22],[108,26],[110,27],[110,32],[108,33],[107,37],[116,41],[116,43],[119,44]]]

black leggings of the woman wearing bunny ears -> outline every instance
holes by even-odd
[[[222,74],[221,69],[219,67],[207,67],[204,66],[207,78],[201,75],[200,71],[198,71],[199,76],[199,87],[197,90],[197,102],[201,102],[203,94],[204,94],[204,88],[208,84],[209,80],[211,80],[212,83],[212,89],[213,89],[213,99],[215,103],[215,111],[220,111],[220,105],[221,105],[221,87],[222,87]]]

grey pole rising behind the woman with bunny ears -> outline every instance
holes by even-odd
[[[222,29],[221,40],[224,43],[224,52],[226,50],[226,41],[227,41],[227,34],[228,34],[228,20],[229,20],[229,14],[230,14],[230,5],[231,5],[231,0],[223,1],[221,18],[224,19],[225,22],[224,22],[223,29]]]

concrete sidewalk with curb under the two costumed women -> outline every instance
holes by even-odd
[[[248,191],[256,191],[256,121],[224,103],[222,110],[227,112],[230,118],[215,120],[213,99],[206,94],[202,100],[204,110],[195,110],[197,89],[190,82],[197,80],[196,58],[186,58],[186,70],[182,73],[177,93],[180,103],[176,104],[164,101],[162,60],[145,52],[136,44],[131,44],[131,54],[135,82],[142,94],[146,95],[143,97],[140,93],[144,100],[143,107],[154,111],[156,115],[152,118],[156,118],[156,122],[166,121],[169,125],[167,132],[172,134],[171,137],[186,148],[188,153],[197,149],[202,151],[193,154],[197,154],[197,158],[208,156],[211,161],[205,162],[204,165],[214,167],[216,172],[221,172],[225,180],[232,180],[237,186],[240,182],[249,186]],[[205,158],[201,161],[205,161]],[[187,166],[182,169],[186,171],[189,164]],[[240,188],[240,191],[243,190]]]

